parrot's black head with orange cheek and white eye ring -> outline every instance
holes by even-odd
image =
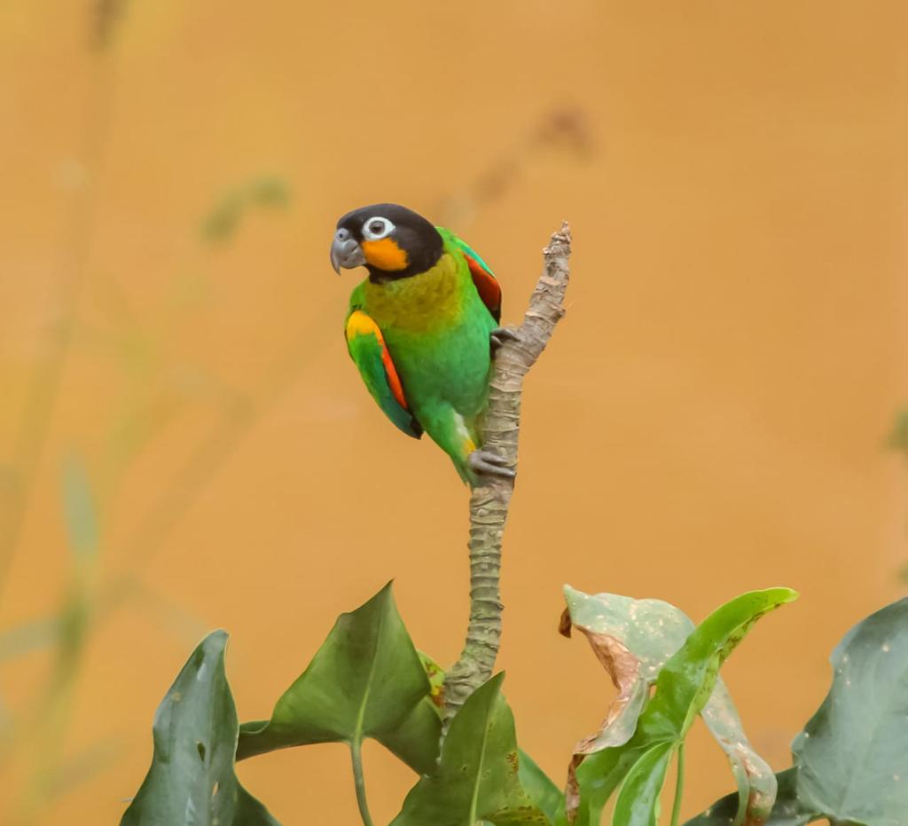
[[[373,281],[391,281],[423,273],[438,263],[442,241],[422,215],[398,204],[372,204],[338,221],[331,242],[331,266],[365,266]]]

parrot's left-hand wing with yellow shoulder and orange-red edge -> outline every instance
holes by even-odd
[[[379,325],[362,310],[353,310],[347,316],[345,333],[350,357],[360,368],[362,381],[372,398],[400,430],[419,439],[422,427],[410,413],[400,376]]]

